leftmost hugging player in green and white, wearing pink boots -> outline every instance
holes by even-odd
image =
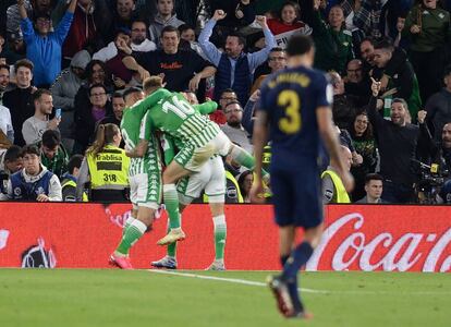
[[[125,153],[132,157],[129,169],[132,216],[126,220],[122,240],[111,255],[112,264],[123,269],[132,268],[129,251],[151,226],[155,213],[161,203],[161,166],[158,142],[149,130],[146,120],[147,107],[142,104],[144,93],[139,88],[129,88],[124,93],[126,109],[121,121],[121,132],[125,142]],[[136,154],[139,144],[145,150]]]

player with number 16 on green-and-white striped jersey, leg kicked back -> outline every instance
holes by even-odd
[[[243,148],[234,145],[219,126],[197,112],[179,93],[162,87],[159,76],[144,81],[148,106],[146,123],[153,131],[161,131],[183,144],[174,160],[162,174],[163,198],[170,220],[170,232],[159,240],[166,245],[185,238],[180,225],[179,196],[175,182],[182,177],[200,171],[203,165],[214,155],[227,156],[247,169],[255,167],[255,159]],[[266,171],[263,174],[267,174]]]

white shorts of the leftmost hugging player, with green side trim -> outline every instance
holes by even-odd
[[[161,174],[159,171],[129,175],[130,199],[133,208],[158,209],[161,203]]]

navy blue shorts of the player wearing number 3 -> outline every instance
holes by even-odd
[[[321,180],[316,160],[305,159],[295,170],[275,166],[271,165],[270,179],[276,223],[303,228],[320,225]]]

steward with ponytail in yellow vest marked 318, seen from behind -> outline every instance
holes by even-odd
[[[115,124],[100,124],[96,140],[86,150],[76,182],[76,199],[83,199],[85,183],[90,182],[89,201],[127,201],[130,158],[119,147],[121,131]]]

